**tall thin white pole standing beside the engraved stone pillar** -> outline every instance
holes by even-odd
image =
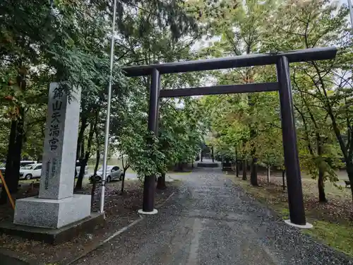
[[[112,79],[113,79],[113,64],[114,64],[115,17],[116,17],[116,0],[114,0],[113,21],[112,21],[112,41],[110,42],[110,76],[109,76],[109,84],[108,84],[107,119],[105,121],[105,135],[104,135],[102,192],[100,194],[100,212],[101,213],[104,213],[105,179],[107,177],[107,158],[108,158],[109,125],[110,125],[110,101],[112,100]]]

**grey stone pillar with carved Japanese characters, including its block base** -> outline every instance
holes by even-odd
[[[69,101],[59,83],[51,83],[40,194],[16,201],[13,223],[61,228],[90,216],[90,195],[73,194],[79,115],[80,90]]]

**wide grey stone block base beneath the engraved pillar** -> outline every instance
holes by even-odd
[[[37,196],[16,200],[13,223],[40,228],[61,228],[90,216],[90,195],[73,194],[65,199]]]

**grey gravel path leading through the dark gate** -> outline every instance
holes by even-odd
[[[145,217],[76,265],[353,264],[276,220],[220,169],[178,177],[183,186],[157,215]]]

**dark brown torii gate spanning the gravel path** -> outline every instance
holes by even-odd
[[[125,71],[126,76],[151,76],[148,129],[154,132],[154,134],[157,134],[160,98],[278,91],[280,94],[282,139],[285,154],[285,170],[287,172],[290,218],[290,220],[285,220],[285,222],[289,225],[306,228],[311,225],[306,223],[305,218],[289,63],[334,59],[336,53],[337,49],[335,47],[325,47],[301,49],[290,52],[277,52],[275,54],[249,54],[237,57],[203,59],[197,61],[178,61],[166,64],[127,66],[124,67],[123,70]],[[164,73],[185,73],[189,71],[231,69],[270,64],[275,64],[277,66],[277,82],[160,90],[160,78]],[[145,176],[143,208],[139,212],[146,214],[157,213],[154,206],[155,176]]]

